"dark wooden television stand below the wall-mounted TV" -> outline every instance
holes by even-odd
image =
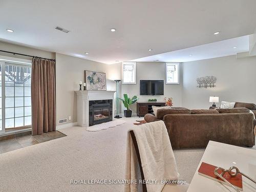
[[[165,106],[165,102],[137,102],[137,116],[143,117],[147,113],[153,113],[152,106]]]

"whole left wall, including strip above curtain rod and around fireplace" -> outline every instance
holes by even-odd
[[[93,70],[106,73],[107,90],[116,90],[114,79],[121,79],[121,63],[115,65],[105,65],[103,63],[80,59],[68,55],[42,51],[29,47],[9,44],[0,41],[0,50],[22,53],[27,55],[34,55],[46,58],[56,58],[56,116],[57,125],[59,119],[72,119],[69,122],[77,121],[77,101],[75,90],[79,89],[78,82],[84,82],[84,70]],[[32,60],[31,57],[13,55],[10,53],[0,52],[0,55],[23,58]],[[121,91],[121,86],[119,87]],[[116,109],[116,102],[114,101],[114,109]],[[120,108],[119,108],[120,109]]]

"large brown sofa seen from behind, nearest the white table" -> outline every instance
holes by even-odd
[[[255,119],[245,105],[241,106],[239,103],[228,110],[159,109],[157,116],[146,114],[144,119],[146,122],[163,120],[173,148],[206,147],[209,140],[252,147]]]

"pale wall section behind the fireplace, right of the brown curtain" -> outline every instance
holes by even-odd
[[[56,107],[57,124],[59,119],[72,117],[69,122],[77,121],[78,82],[84,82],[84,70],[106,73],[107,90],[115,91],[114,79],[120,79],[121,65],[106,65],[103,63],[56,53]],[[114,102],[115,109],[115,102]]]

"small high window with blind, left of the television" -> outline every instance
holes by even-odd
[[[136,62],[122,63],[122,83],[136,84]]]

